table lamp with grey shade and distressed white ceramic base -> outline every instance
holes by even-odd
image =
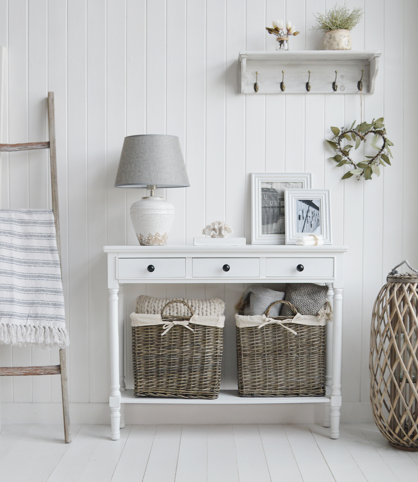
[[[173,225],[173,204],[154,196],[154,190],[189,186],[178,137],[165,134],[125,137],[115,187],[146,187],[151,191],[150,196],[131,206],[131,220],[139,244],[165,244]]]

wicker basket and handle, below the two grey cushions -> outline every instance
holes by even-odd
[[[282,303],[296,308],[288,301]],[[277,316],[274,320],[289,317]],[[238,392],[240,397],[322,397],[325,395],[326,326],[286,323],[237,327]]]

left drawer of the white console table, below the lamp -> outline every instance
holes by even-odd
[[[185,278],[186,258],[119,258],[118,278]]]

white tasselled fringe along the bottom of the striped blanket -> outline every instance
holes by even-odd
[[[0,345],[30,346],[41,350],[65,348],[69,345],[69,336],[65,328],[55,326],[0,323]]]

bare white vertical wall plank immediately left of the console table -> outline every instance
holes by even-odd
[[[88,228],[88,329],[89,400],[107,395],[108,332],[106,255],[106,3],[87,2],[87,228]],[[86,367],[87,368],[87,367]]]

